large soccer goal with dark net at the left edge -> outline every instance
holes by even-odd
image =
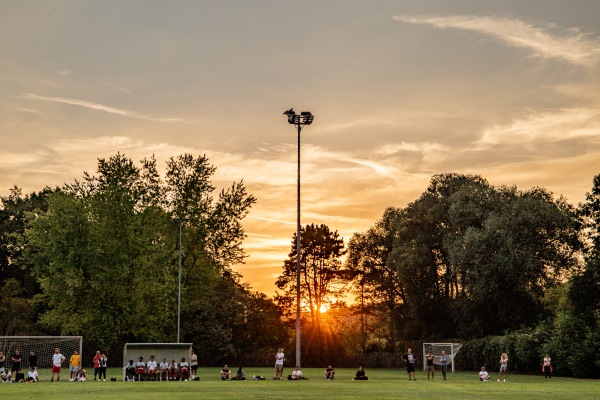
[[[59,348],[60,352],[67,360],[73,355],[74,351],[81,354],[83,350],[83,336],[0,336],[0,350],[6,356],[6,366],[11,365],[11,357],[19,350],[21,354],[21,368],[28,369],[30,365],[30,356],[37,357],[38,368],[52,368],[52,355],[54,349]]]

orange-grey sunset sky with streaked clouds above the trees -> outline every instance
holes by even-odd
[[[302,224],[347,241],[434,174],[544,187],[600,173],[600,1],[0,0],[0,195],[120,152],[206,154],[243,179],[253,289]]]

